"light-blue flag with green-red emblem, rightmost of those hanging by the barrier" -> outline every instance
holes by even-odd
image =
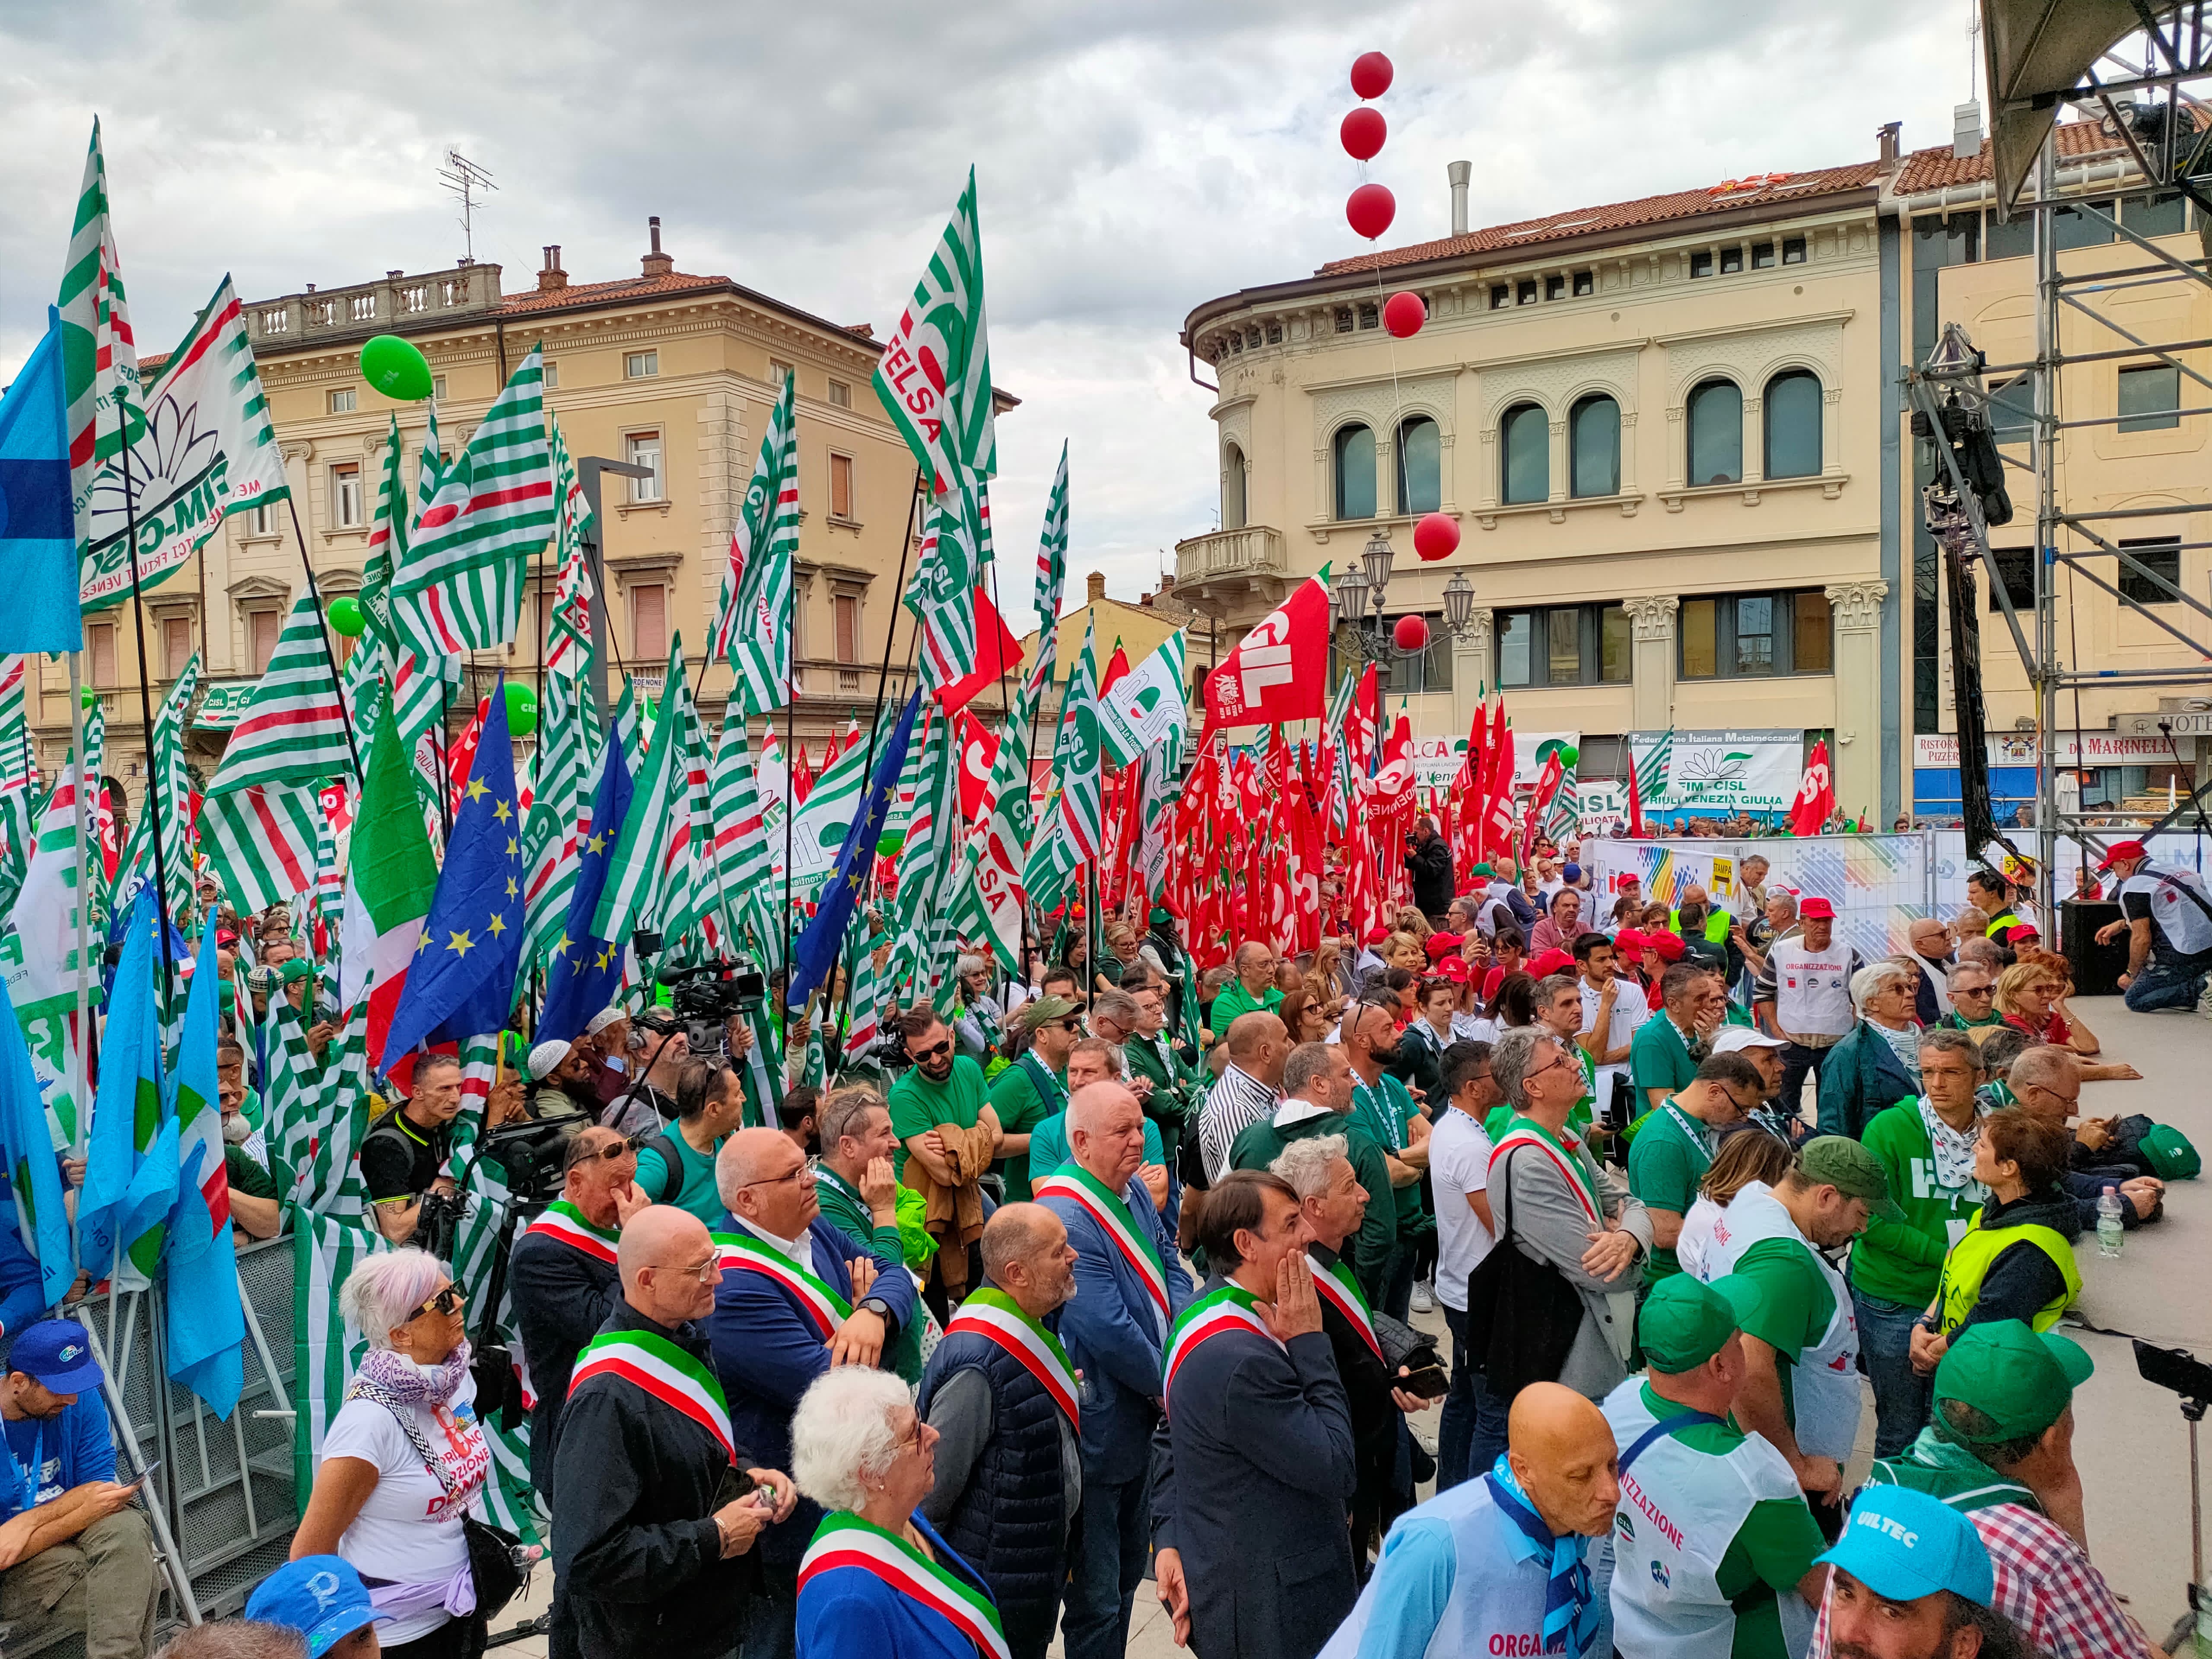
[[[239,1263],[230,1250],[230,1228],[208,1208],[208,1190],[230,1192],[228,1177],[215,1186],[223,1161],[223,1108],[215,1075],[221,1002],[215,929],[206,927],[192,989],[184,1000],[184,1042],[177,1048],[184,1152],[177,1203],[168,1214],[168,1376],[228,1420],[246,1387],[246,1314],[239,1310]]]

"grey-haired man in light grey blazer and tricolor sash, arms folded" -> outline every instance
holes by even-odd
[[[1513,1121],[1491,1150],[1491,1214],[1531,1261],[1548,1261],[1582,1294],[1582,1329],[1553,1378],[1604,1400],[1628,1376],[1637,1329],[1632,1272],[1652,1248],[1644,1206],[1608,1183],[1566,1126],[1582,1097],[1582,1066],[1544,1026],[1520,1026],[1491,1051],[1491,1079]],[[1511,1190],[1509,1190],[1511,1188]]]

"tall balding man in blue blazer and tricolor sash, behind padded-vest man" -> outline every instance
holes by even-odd
[[[1168,1325],[1190,1279],[1137,1179],[1144,1110],[1121,1084],[1068,1102],[1075,1157],[1035,1181],[1037,1203],[1075,1245],[1075,1298],[1060,1334],[1084,1376],[1084,1506],[1068,1559],[1066,1659],[1121,1659],[1146,1566],[1152,1425],[1159,1420]]]

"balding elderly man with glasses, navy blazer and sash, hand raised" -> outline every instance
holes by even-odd
[[[714,1183],[730,1206],[714,1232],[714,1369],[732,1438],[776,1464],[790,1460],[792,1411],[814,1378],[834,1365],[880,1367],[887,1338],[918,1316],[896,1221],[854,1239],[823,1219],[814,1181],[805,1155],[772,1128],[739,1130],[714,1159]],[[799,1557],[818,1522],[821,1509],[803,1504],[768,1528],[748,1655],[792,1655]]]

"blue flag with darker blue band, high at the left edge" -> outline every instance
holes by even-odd
[[[69,504],[62,316],[0,398],[0,653],[84,650],[77,608],[77,518]]]

